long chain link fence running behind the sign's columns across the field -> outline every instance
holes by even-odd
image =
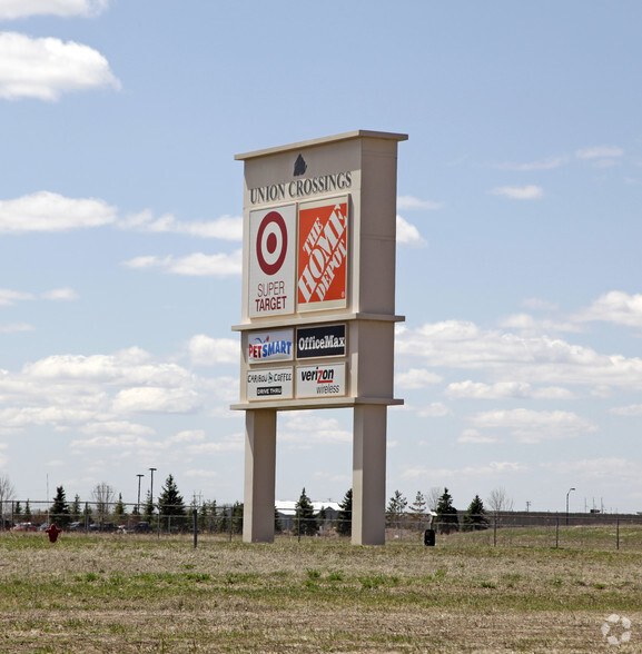
[[[348,516],[346,518],[346,515]],[[243,504],[159,506],[124,503],[75,503],[55,513],[48,502],[0,502],[0,532],[43,532],[56,523],[78,534],[167,536],[201,534],[240,539]],[[349,513],[323,512],[309,516],[275,509],[277,538],[344,538],[350,536]],[[432,532],[432,537],[427,533]],[[466,514],[438,522],[425,514],[387,514],[386,543],[415,542],[436,547],[565,547],[642,549],[642,515],[490,513],[471,523]]]

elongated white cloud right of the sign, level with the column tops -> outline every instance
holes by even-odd
[[[597,427],[571,412],[497,409],[471,418],[477,429],[507,429],[520,443],[541,443],[596,432]]]

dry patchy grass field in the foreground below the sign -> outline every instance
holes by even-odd
[[[641,652],[642,553],[0,535],[0,652]],[[628,617],[629,643],[601,627]],[[613,626],[610,635],[618,633]]]

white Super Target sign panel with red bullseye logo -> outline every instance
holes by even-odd
[[[249,316],[294,314],[296,205],[249,212]]]

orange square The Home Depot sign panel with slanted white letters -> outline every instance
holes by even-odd
[[[298,304],[345,300],[347,200],[299,209]]]

